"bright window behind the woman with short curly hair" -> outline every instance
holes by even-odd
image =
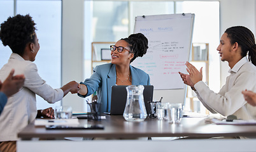
[[[0,0],[0,21],[13,16],[13,1]],[[40,49],[34,63],[38,66],[38,73],[47,84],[54,89],[61,85],[61,1],[19,1],[17,0],[17,14],[31,15],[36,23]],[[7,63],[11,49],[0,45],[0,66]],[[36,96],[38,109],[49,106],[43,98]]]

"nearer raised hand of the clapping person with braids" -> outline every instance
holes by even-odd
[[[203,67],[200,69],[200,72],[199,72],[194,65],[188,62],[185,65],[187,66],[187,72],[189,73],[189,77],[186,77],[188,79],[187,83],[193,84],[193,86],[192,85],[190,86],[194,87],[194,84],[203,80],[203,74],[202,74]]]

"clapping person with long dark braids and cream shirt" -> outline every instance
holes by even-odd
[[[186,63],[188,74],[180,73],[181,79],[184,84],[192,87],[197,98],[212,113],[255,120],[256,108],[248,105],[241,94],[245,89],[256,91],[256,44],[253,33],[241,26],[227,28],[220,38],[217,51],[221,60],[229,63],[229,73],[231,73],[218,93],[211,91],[202,81],[202,68],[199,72],[188,62]]]

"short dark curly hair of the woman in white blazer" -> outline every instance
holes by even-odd
[[[1,23],[0,39],[4,46],[9,46],[13,53],[20,56],[24,54],[25,46],[35,42],[36,23],[29,15],[16,15],[9,17]]]

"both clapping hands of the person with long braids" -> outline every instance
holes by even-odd
[[[196,69],[196,67],[189,62],[186,62],[185,65],[187,66],[186,70],[188,74],[180,73],[180,77],[183,80],[184,84],[189,85],[190,87],[194,87],[194,85],[203,79],[202,69],[201,67],[200,72]]]

